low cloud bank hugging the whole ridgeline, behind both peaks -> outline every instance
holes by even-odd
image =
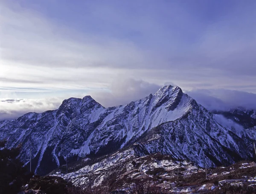
[[[168,82],[166,84],[173,84]],[[72,97],[83,98],[91,95],[96,101],[105,107],[119,106],[130,103],[150,93],[154,94],[161,85],[152,84],[143,80],[116,79],[111,83],[108,90],[88,90],[87,93],[76,93]],[[194,98],[199,104],[208,110],[229,110],[237,107],[244,107],[248,110],[256,110],[256,94],[236,90],[190,90],[184,91]],[[74,94],[74,93],[73,93]],[[65,98],[71,97],[72,93]],[[52,96],[52,94],[51,94]],[[14,119],[27,112],[44,112],[57,109],[63,97],[56,98],[0,98],[0,120]],[[221,118],[220,118],[221,119]],[[220,120],[222,121],[222,120]]]

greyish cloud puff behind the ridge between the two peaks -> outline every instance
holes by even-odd
[[[109,91],[92,92],[90,95],[105,107],[128,104],[131,101],[144,98],[157,92],[161,86],[143,80],[116,79],[112,82]]]

